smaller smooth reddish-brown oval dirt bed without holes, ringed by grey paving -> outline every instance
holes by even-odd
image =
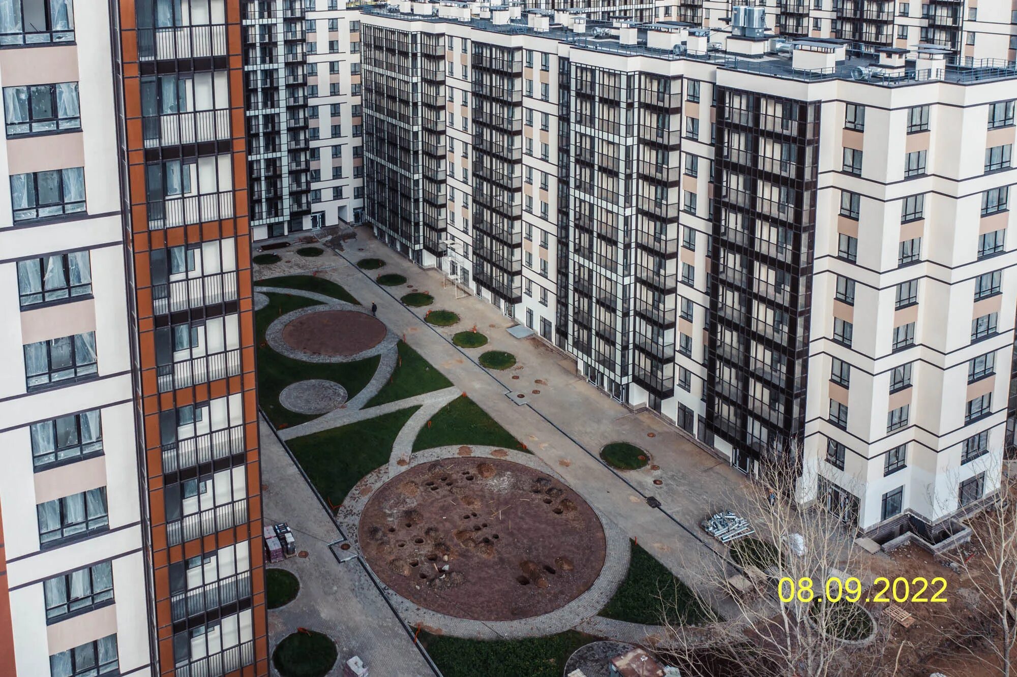
[[[349,357],[374,348],[384,334],[381,320],[355,310],[306,313],[283,328],[283,341],[291,348],[330,357]]]

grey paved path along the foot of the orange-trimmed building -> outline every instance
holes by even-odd
[[[287,569],[300,579],[297,599],[268,611],[270,649],[298,627],[324,632],[339,648],[339,661],[328,673],[342,674],[342,663],[360,656],[372,675],[419,677],[431,671],[398,618],[356,560],[340,563],[330,545],[342,535],[321,507],[296,465],[259,417],[264,524],[286,521],[297,550],[308,557],[291,557],[266,564]],[[260,539],[257,540],[260,547]],[[343,552],[343,551],[340,551]],[[272,668],[272,674],[278,674]]]

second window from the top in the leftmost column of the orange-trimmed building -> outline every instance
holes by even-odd
[[[81,128],[77,82],[4,87],[3,108],[8,137]]]

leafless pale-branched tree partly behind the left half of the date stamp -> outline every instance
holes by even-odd
[[[695,677],[890,674],[883,660],[887,633],[860,605],[814,601],[825,595],[864,600],[868,586],[852,543],[856,517],[850,501],[840,498],[850,494],[814,496],[816,464],[803,461],[797,444],[768,456],[756,466],[754,481],[716,506],[744,517],[756,533],[731,542],[726,552],[720,548],[721,556],[706,566],[690,567],[699,571],[690,582],[719,593],[728,620],[706,627],[672,624],[657,651]],[[802,498],[812,500],[806,505]],[[794,599],[782,601],[792,581]],[[871,629],[864,642],[834,636],[848,618]]]

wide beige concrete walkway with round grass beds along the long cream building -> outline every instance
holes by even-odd
[[[697,572],[718,566],[716,554],[724,550],[708,539],[699,522],[712,512],[732,506],[744,482],[740,474],[656,415],[633,413],[587,383],[576,374],[574,359],[538,338],[511,336],[504,329],[515,324],[512,319],[473,296],[457,299],[451,286],[442,287],[439,271],[420,269],[364,229],[358,229],[358,234],[357,240],[346,243],[344,255],[349,261],[326,253],[318,257],[322,267],[317,275],[342,285],[364,304],[377,303],[377,316],[440,369],[457,390],[467,392],[480,404],[627,536],[639,538],[644,547],[722,615],[735,616],[735,605],[718,598],[713,589],[704,588]],[[368,275],[355,265],[365,257],[381,258],[387,264]],[[272,274],[300,271],[287,268],[285,263],[272,266]],[[260,269],[256,272],[259,278],[264,274]],[[405,275],[408,285],[434,297],[429,309],[454,310],[463,321],[442,328],[425,323],[422,316],[428,308],[404,306],[398,297],[406,288],[390,290],[378,286],[374,276],[381,272]],[[454,346],[452,334],[473,324],[488,336],[488,345],[472,351]],[[487,350],[513,353],[517,366],[504,372],[480,367],[476,359]],[[528,404],[518,406],[512,402],[505,396],[511,391],[527,392]],[[293,435],[295,430],[287,432]],[[659,470],[648,466],[619,473],[608,468],[597,453],[604,444],[618,440],[646,449]],[[655,480],[661,484],[655,485]],[[661,502],[660,509],[647,505],[649,496]]]

